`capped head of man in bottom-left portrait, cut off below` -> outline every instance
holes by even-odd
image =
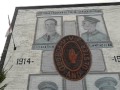
[[[58,90],[58,86],[54,82],[43,81],[38,85],[38,90]]]

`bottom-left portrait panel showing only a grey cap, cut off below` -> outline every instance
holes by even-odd
[[[63,83],[57,74],[30,74],[27,90],[64,90]]]

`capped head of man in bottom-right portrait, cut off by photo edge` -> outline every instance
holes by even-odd
[[[113,77],[103,77],[95,81],[95,86],[98,90],[117,90],[117,80]]]

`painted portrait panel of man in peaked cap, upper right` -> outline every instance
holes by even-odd
[[[109,41],[104,22],[100,16],[80,16],[78,20],[81,37],[86,42],[105,42]]]

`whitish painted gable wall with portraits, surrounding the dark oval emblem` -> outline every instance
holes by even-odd
[[[4,67],[5,90],[120,90],[120,5],[18,9]],[[54,48],[67,35],[89,46],[92,65],[78,81],[62,77]],[[105,89],[106,88],[106,89]]]

